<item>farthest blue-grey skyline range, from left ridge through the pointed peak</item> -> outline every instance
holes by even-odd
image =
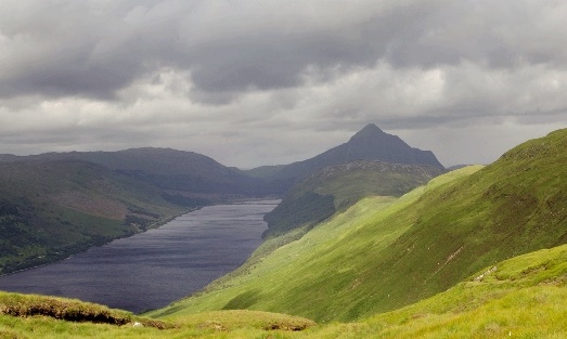
[[[426,165],[444,169],[433,152],[409,146],[399,136],[369,123],[350,140],[320,155],[289,165],[250,170],[227,167],[188,151],[140,147],[116,152],[44,153],[30,156],[0,154],[1,161],[78,159],[102,165],[152,183],[178,204],[210,204],[231,197],[283,195],[299,179],[322,168],[359,160]],[[186,205],[185,204],[185,205]]]

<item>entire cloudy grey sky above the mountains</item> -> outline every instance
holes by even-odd
[[[253,168],[375,123],[452,166],[567,127],[567,1],[0,3],[0,153]]]

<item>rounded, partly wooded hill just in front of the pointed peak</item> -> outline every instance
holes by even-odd
[[[443,173],[436,166],[401,165],[359,160],[323,168],[298,181],[282,203],[266,214],[274,236],[292,229],[310,226],[345,210],[363,197],[399,197]]]

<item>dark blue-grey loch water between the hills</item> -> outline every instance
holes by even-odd
[[[209,206],[67,260],[5,276],[0,289],[78,298],[136,313],[157,309],[236,269],[260,245],[279,201]]]

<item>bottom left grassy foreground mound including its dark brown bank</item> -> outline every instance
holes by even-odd
[[[0,292],[0,338],[254,338],[314,325],[306,318],[250,311],[162,322],[75,299]]]

